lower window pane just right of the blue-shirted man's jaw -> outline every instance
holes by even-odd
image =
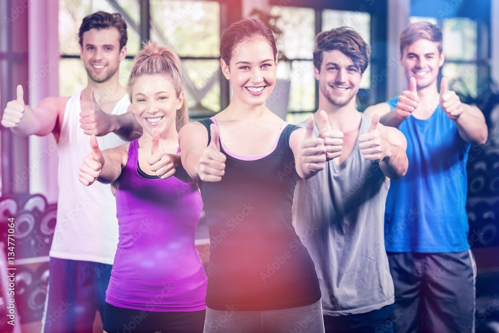
[[[442,74],[449,81],[449,89],[466,96],[477,97],[477,65],[445,63]]]

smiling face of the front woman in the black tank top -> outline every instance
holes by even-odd
[[[230,64],[220,60],[225,77],[231,81],[233,99],[262,105],[272,92],[277,62],[272,47],[263,37],[240,43],[232,51]]]

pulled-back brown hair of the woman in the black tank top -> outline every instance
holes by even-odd
[[[274,53],[274,61],[277,55],[277,46],[272,30],[262,21],[256,18],[246,18],[232,23],[225,30],[222,39],[220,40],[220,58],[229,64],[232,57],[232,51],[242,42],[251,38],[262,36],[264,37]]]

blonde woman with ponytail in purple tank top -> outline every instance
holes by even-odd
[[[79,180],[110,183],[118,250],[106,292],[105,332],[203,332],[207,278],[194,244],[203,203],[180,161],[178,131],[188,122],[180,59],[149,42],[128,83],[139,139],[83,160]],[[172,177],[175,176],[175,177]]]

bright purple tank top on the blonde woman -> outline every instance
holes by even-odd
[[[207,278],[194,244],[201,195],[175,177],[141,176],[137,162],[134,140],[116,190],[119,242],[106,302],[143,311],[204,310]]]

